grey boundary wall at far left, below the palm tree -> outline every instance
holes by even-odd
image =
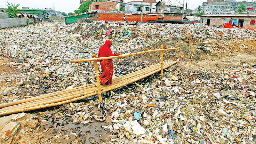
[[[27,18],[0,19],[0,28],[27,26]]]

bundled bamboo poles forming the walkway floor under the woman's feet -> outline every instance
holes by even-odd
[[[96,58],[97,59],[97,58]],[[84,98],[99,94],[101,92],[107,92],[119,88],[121,86],[136,82],[142,78],[150,76],[161,69],[170,67],[171,65],[177,63],[173,60],[165,60],[158,64],[152,65],[150,67],[138,70],[136,72],[114,77],[111,85],[101,84],[101,91],[98,92],[98,87],[94,84],[88,84],[68,90],[63,90],[59,92],[53,92],[49,94],[44,94],[24,100],[17,100],[13,102],[0,104],[0,116],[9,115],[13,113],[25,112],[30,110],[36,110],[40,108],[53,107],[57,105],[66,104],[76,100],[82,100]]]

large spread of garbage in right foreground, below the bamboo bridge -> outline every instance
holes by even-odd
[[[93,101],[111,143],[255,143],[256,65],[218,72],[172,69],[161,80]],[[96,119],[97,120],[97,119]]]

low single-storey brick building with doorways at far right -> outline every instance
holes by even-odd
[[[223,14],[223,15],[202,15],[200,25],[207,24],[208,26],[220,26],[227,23],[233,18],[233,23],[238,25],[241,23],[243,28],[256,28],[255,14]]]

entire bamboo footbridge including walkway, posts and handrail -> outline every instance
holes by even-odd
[[[177,50],[177,49],[180,49],[180,48],[164,49],[163,46],[161,46],[161,49],[157,49],[157,50],[149,50],[149,51],[123,54],[119,56],[101,57],[101,58],[96,58],[96,54],[93,54],[94,58],[84,59],[84,60],[73,60],[71,61],[71,63],[94,61],[97,84],[96,83],[87,84],[87,85],[79,86],[72,89],[66,89],[58,92],[39,95],[39,96],[28,98],[28,99],[2,103],[0,104],[0,116],[58,106],[58,105],[70,103],[76,100],[82,100],[84,98],[97,95],[97,94],[99,94],[99,101],[102,102],[102,98],[101,98],[102,92],[107,92],[107,91],[122,87],[124,85],[131,84],[133,82],[136,82],[142,78],[150,76],[159,71],[161,71],[161,77],[163,77],[163,69],[168,68],[179,61],[179,60],[176,60],[176,61],[164,60],[164,57],[163,57],[164,51]],[[129,73],[127,75],[113,77],[111,85],[100,84],[97,60],[123,58],[123,57],[138,55],[142,53],[159,52],[159,51],[161,51],[160,63]]]

